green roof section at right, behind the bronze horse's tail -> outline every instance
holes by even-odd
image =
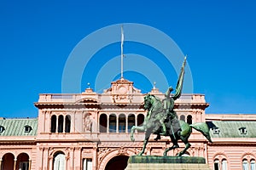
[[[212,121],[212,124],[216,129],[210,131],[212,138],[256,138],[256,121]],[[245,130],[241,132],[242,129]]]

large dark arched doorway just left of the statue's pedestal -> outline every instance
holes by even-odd
[[[124,170],[127,167],[129,156],[115,156],[108,161],[105,170]]]

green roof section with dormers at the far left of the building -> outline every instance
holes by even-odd
[[[3,132],[1,132],[1,127]],[[28,131],[26,132],[26,130]],[[0,119],[0,136],[37,136],[37,133],[37,118]]]

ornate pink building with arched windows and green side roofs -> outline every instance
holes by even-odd
[[[153,88],[151,94],[163,99]],[[129,156],[143,146],[144,134],[131,142],[133,125],[143,123],[143,96],[133,82],[120,79],[102,94],[40,94],[36,119],[0,119],[0,170],[125,169]],[[255,170],[256,116],[205,114],[203,94],[183,94],[175,108],[180,119],[207,122],[212,144],[193,131],[186,156],[203,156],[214,170]],[[146,155],[161,156],[172,145],[151,136]],[[169,152],[175,156],[181,148]]]

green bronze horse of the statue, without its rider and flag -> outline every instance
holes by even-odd
[[[143,141],[143,150],[141,150],[141,152],[138,154],[139,156],[143,155],[146,149],[146,146],[148,144],[148,139],[151,133],[154,133],[154,134],[160,133],[161,125],[157,117],[163,116],[165,114],[163,111],[161,100],[152,94],[147,94],[144,97],[144,110],[148,111],[148,113],[144,119],[143,125],[131,127],[131,135],[130,135],[131,141],[134,142],[135,139],[133,137],[133,134],[136,129],[139,131],[145,132],[145,139]],[[161,135],[169,136],[170,139],[172,140],[173,145],[172,147],[166,148],[166,150],[164,151],[164,156],[167,156],[168,151],[179,148],[179,145],[177,144],[177,141],[179,139],[181,139],[185,144],[185,148],[177,154],[177,156],[182,156],[186,152],[186,150],[188,150],[189,147],[191,146],[191,144],[189,144],[189,136],[192,133],[192,128],[201,132],[207,138],[207,140],[212,143],[212,139],[209,134],[209,127],[207,126],[206,122],[197,122],[189,125],[187,122],[183,122],[181,120],[177,120],[177,121],[180,125],[180,129],[178,131],[177,130],[173,131],[172,121],[170,119],[165,121],[166,134],[161,134]]]

